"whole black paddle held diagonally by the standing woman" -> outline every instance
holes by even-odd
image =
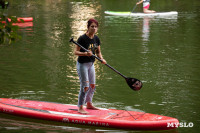
[[[86,48],[84,48],[83,46],[81,46],[79,43],[75,42],[75,41],[73,40],[73,38],[71,38],[69,42],[73,42],[74,44],[78,45],[79,47],[81,47],[81,48],[82,48],[83,50],[85,50],[86,52],[89,52],[89,50],[87,50]],[[102,60],[101,60],[99,57],[97,57],[96,55],[93,54],[92,56],[95,57],[96,59],[98,59],[99,61],[102,62]],[[123,74],[121,74],[119,71],[117,71],[116,69],[114,69],[112,66],[110,66],[109,64],[105,64],[105,65],[106,65],[107,67],[109,67],[110,69],[112,69],[113,71],[115,71],[115,72],[116,72],[117,74],[119,74],[120,76],[122,76],[122,77],[126,80],[128,86],[129,86],[131,89],[133,89],[134,91],[138,91],[138,90],[140,90],[140,89],[142,88],[142,82],[141,82],[140,80],[138,80],[138,79],[136,79],[136,78],[129,78],[129,77],[126,77],[126,76],[124,76]]]

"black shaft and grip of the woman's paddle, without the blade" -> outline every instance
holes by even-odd
[[[89,52],[89,50],[87,50],[86,48],[84,48],[83,46],[81,46],[79,43],[75,42],[73,40],[73,38],[71,38],[69,40],[69,42],[73,42],[74,44],[78,45],[79,47],[81,47],[83,50],[85,50],[86,52]],[[101,60],[99,57],[97,57],[96,55],[92,54],[93,57],[95,57],[97,60],[103,62],[103,60]],[[120,76],[122,76],[123,78],[127,79],[126,76],[124,76],[123,74],[121,74],[119,71],[117,71],[116,69],[114,69],[112,66],[110,66],[109,64],[105,64],[107,67],[109,67],[110,69],[112,69],[113,71],[115,71],[117,74],[119,74]]]

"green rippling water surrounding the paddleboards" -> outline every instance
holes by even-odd
[[[167,133],[196,133],[200,116],[200,2],[152,0],[151,9],[177,17],[131,18],[104,14],[130,11],[132,0],[10,0],[7,13],[33,17],[20,28],[22,39],[0,46],[0,97],[77,104],[76,40],[86,22],[99,20],[98,36],[108,64],[143,81],[132,91],[125,80],[96,62],[94,105],[145,111],[177,118],[193,127]],[[138,6],[135,11],[141,11]],[[136,132],[33,120],[0,114],[0,132]],[[140,131],[139,131],[140,132]],[[142,131],[141,131],[142,132]]]

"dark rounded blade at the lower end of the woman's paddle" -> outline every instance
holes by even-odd
[[[139,91],[142,88],[142,82],[136,78],[126,78],[126,82],[134,91]]]

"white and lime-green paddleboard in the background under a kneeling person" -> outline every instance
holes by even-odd
[[[155,12],[155,13],[140,13],[140,12],[117,12],[117,11],[105,11],[105,14],[114,15],[114,16],[135,16],[135,17],[143,17],[143,16],[172,16],[178,15],[178,12]]]

